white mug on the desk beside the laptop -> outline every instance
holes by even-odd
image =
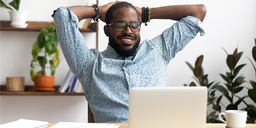
[[[221,118],[221,115],[226,116],[226,121]],[[227,124],[228,128],[245,128],[247,111],[242,110],[227,110],[219,115],[220,121]]]

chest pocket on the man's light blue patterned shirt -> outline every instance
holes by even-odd
[[[137,63],[137,73],[141,75],[152,75],[156,73],[155,59],[146,57]]]

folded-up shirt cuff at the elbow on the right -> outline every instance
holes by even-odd
[[[202,25],[202,22],[201,20],[199,20],[198,18],[196,17],[193,17],[193,16],[186,16],[182,19],[180,19],[181,21],[184,21],[196,28],[199,28],[199,32],[200,32],[200,36],[204,36],[205,34],[205,29],[204,29],[204,26]]]

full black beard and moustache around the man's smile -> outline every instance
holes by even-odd
[[[124,36],[117,36],[116,39],[118,40],[118,38],[121,38],[121,37],[132,37],[134,38],[134,40],[137,39],[135,36],[131,36],[127,34],[124,34]],[[116,53],[123,57],[129,57],[129,56],[135,55],[135,53],[137,52],[137,48],[139,47],[139,44],[140,44],[140,36],[132,48],[122,47],[120,44],[117,43],[114,37],[111,36],[111,34],[109,34],[108,40],[109,40],[109,45],[116,50]],[[123,44],[123,45],[129,46],[129,44]]]

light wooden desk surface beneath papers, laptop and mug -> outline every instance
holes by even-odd
[[[50,123],[48,128],[52,127],[56,123]],[[118,128],[128,128],[127,123],[107,123],[107,124],[116,124],[120,125]],[[206,124],[206,128],[226,128],[226,124]],[[246,128],[256,128],[256,124],[246,124]]]

